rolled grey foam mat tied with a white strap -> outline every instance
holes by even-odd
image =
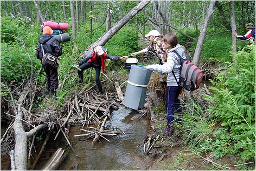
[[[147,88],[145,86],[149,83],[151,72],[152,70],[145,69],[144,66],[131,66],[124,96],[125,106],[134,110],[144,107]]]

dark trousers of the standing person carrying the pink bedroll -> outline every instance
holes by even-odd
[[[59,85],[58,70],[47,65],[43,65],[43,69],[46,72],[46,86],[50,90],[56,90]]]

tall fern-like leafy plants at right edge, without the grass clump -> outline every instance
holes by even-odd
[[[215,95],[207,98],[216,105],[208,111],[233,135],[233,152],[242,150],[241,158],[252,160],[255,159],[255,45],[239,51],[235,60],[225,74],[217,77],[221,82],[211,87]]]

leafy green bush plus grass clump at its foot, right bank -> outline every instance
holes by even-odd
[[[197,102],[185,105],[182,130],[191,148],[222,158],[239,154],[244,161],[255,160],[255,45],[236,53],[236,63],[226,63],[205,95],[210,107],[203,111]],[[193,107],[192,107],[193,106]]]

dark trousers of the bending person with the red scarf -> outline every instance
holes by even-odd
[[[101,66],[94,66],[92,63],[85,63],[85,64],[82,64],[81,66],[79,66],[79,68],[82,70],[82,71],[79,71],[78,70],[78,76],[81,80],[83,80],[84,78],[84,71],[86,69],[89,69],[90,67],[94,67],[95,69],[95,82],[96,82],[96,85],[98,86],[99,88],[99,92],[102,92],[102,85],[100,83],[100,70],[101,70]]]

